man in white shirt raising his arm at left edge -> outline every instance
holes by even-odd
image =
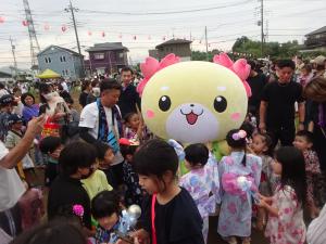
[[[26,191],[14,167],[27,154],[35,137],[41,132],[45,121],[45,116],[32,119],[25,136],[11,151],[0,142],[0,230],[10,236],[17,235],[22,230],[17,202]]]

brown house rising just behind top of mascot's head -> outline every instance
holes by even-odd
[[[149,50],[149,55],[162,60],[170,53],[174,53],[181,59],[181,61],[190,61],[192,41],[184,39],[171,39],[155,47],[155,50]]]

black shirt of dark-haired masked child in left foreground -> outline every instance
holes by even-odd
[[[53,219],[60,215],[60,209],[80,204],[84,207],[83,223],[88,229],[90,224],[90,200],[80,180],[60,175],[52,182],[48,197],[48,217]]]

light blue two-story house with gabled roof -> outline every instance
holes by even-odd
[[[37,60],[41,72],[49,68],[72,80],[84,77],[84,56],[70,49],[52,44],[39,52]]]

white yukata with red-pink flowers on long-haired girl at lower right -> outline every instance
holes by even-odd
[[[278,187],[273,196],[272,207],[278,209],[278,217],[268,216],[265,235],[269,237],[271,244],[303,244],[303,210],[294,190],[289,185]]]

